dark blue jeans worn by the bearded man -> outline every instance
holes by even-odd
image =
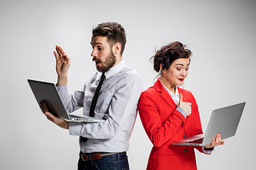
[[[100,153],[103,154],[103,153]],[[101,159],[83,161],[78,160],[78,170],[127,170],[129,163],[127,152],[104,156]]]

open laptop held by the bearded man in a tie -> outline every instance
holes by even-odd
[[[58,91],[55,87],[55,84],[36,81],[32,79],[28,79],[28,84],[31,86],[31,90],[33,91],[34,96],[36,97],[36,101],[41,103],[44,101],[50,113],[58,118],[63,118],[68,121],[73,122],[102,122],[105,120],[92,118],[87,115],[75,115],[68,114],[65,110],[63,102],[60,99]]]

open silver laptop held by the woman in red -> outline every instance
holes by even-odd
[[[238,123],[244,108],[245,102],[215,109],[210,115],[210,120],[204,135],[195,135],[184,140],[172,142],[171,144],[205,146],[210,144],[211,140],[215,138],[218,133],[220,133],[222,140],[233,137],[238,128]]]

